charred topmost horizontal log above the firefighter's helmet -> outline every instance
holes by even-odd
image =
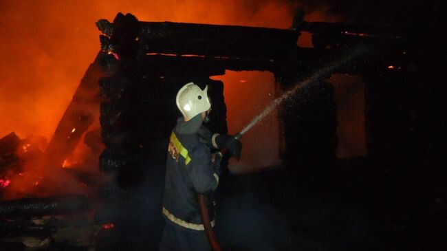
[[[280,59],[287,58],[298,39],[298,32],[294,30],[139,22],[131,14],[124,16],[121,13],[113,24],[100,20],[97,25],[103,33],[111,35],[110,43],[119,53],[120,47],[132,47],[131,41],[134,41],[138,43],[140,52],[146,53]]]

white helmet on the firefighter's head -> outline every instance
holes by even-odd
[[[184,85],[177,92],[175,102],[180,112],[182,112],[185,121],[210,109],[211,104],[206,91],[208,91],[208,87],[202,90],[198,85],[191,82]]]

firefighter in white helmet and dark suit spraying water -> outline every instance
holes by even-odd
[[[161,251],[211,250],[201,222],[197,194],[207,196],[211,226],[214,226],[212,194],[219,184],[222,155],[211,154],[212,148],[226,148],[238,160],[241,155],[239,140],[232,135],[212,135],[202,125],[211,111],[207,89],[188,83],[178,91],[175,100],[183,118],[177,119],[168,145],[162,207],[166,225]]]

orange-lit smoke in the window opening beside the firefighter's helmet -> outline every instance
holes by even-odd
[[[228,132],[235,134],[274,100],[274,76],[270,72],[231,72],[213,77],[224,83]],[[274,166],[279,160],[279,129],[276,109],[243,135],[241,160],[230,159],[230,170],[243,173]]]

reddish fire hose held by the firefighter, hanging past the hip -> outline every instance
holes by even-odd
[[[242,138],[242,133],[236,133],[235,140],[240,140]],[[221,155],[224,155],[227,152],[227,149],[221,149],[219,153]],[[211,222],[210,222],[210,215],[208,213],[208,208],[206,207],[206,195],[203,195],[201,193],[197,194],[197,199],[199,201],[199,207],[200,207],[200,216],[201,221],[204,223],[204,229],[206,238],[208,238],[208,241],[211,245],[211,248],[213,251],[221,251],[221,247],[219,243],[217,242],[216,235],[214,231],[212,230]]]

